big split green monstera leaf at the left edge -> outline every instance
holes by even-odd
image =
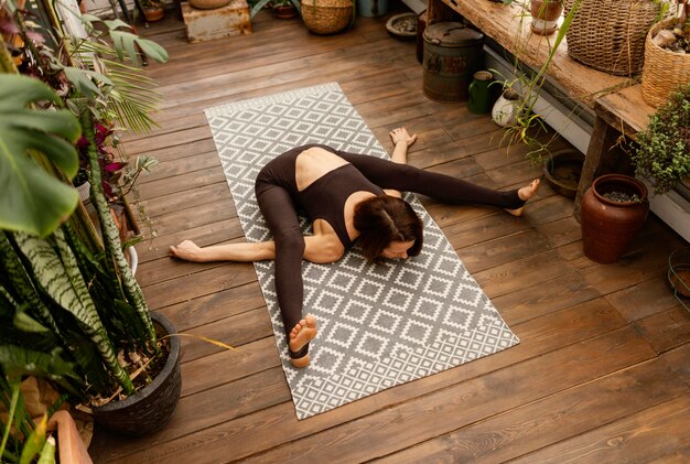
[[[31,109],[37,101],[60,98],[37,79],[0,74],[0,228],[45,237],[74,211],[78,194],[28,152],[43,153],[72,179],[82,129],[67,110]]]

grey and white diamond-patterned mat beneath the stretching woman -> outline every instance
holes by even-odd
[[[386,158],[336,83],[205,110],[233,201],[249,241],[270,240],[254,194],[259,170],[305,143]],[[319,335],[311,364],[289,363],[273,262],[255,263],[298,419],[348,403],[516,345],[519,341],[417,201],[424,223],[420,256],[369,265],[357,246],[331,265],[302,262],[303,314]],[[310,224],[301,218],[305,234]]]

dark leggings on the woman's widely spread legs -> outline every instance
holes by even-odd
[[[290,331],[302,319],[304,298],[301,272],[304,237],[295,207],[295,161],[310,147],[314,145],[298,147],[272,160],[261,170],[255,186],[257,202],[276,242],[276,293],[288,342]],[[508,209],[516,209],[525,204],[517,190],[495,191],[377,157],[317,147],[338,154],[381,188],[414,192],[446,203],[470,203]]]

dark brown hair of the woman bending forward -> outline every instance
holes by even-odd
[[[395,196],[367,198],[355,208],[355,228],[359,230],[359,246],[369,262],[380,262],[384,248],[391,241],[411,241],[409,256],[422,249],[423,224],[412,206]]]

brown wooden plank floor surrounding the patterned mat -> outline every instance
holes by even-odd
[[[97,429],[95,462],[688,462],[690,314],[666,281],[687,242],[654,216],[627,256],[600,266],[582,253],[572,201],[547,185],[522,218],[422,198],[521,343],[303,421],[251,265],[166,257],[184,238],[244,239],[202,112],[223,102],[335,80],[388,150],[390,129],[419,133],[413,165],[499,188],[540,175],[522,148],[498,147],[488,117],[428,100],[414,42],[385,20],[316,36],[261,12],[254,34],[200,44],[173,18],[147,32],[171,61],[149,67],[161,129],[126,143],[161,161],[140,186],[157,237],[138,247],[138,279],[179,331],[239,353],[184,338],[172,421],[137,440]]]

